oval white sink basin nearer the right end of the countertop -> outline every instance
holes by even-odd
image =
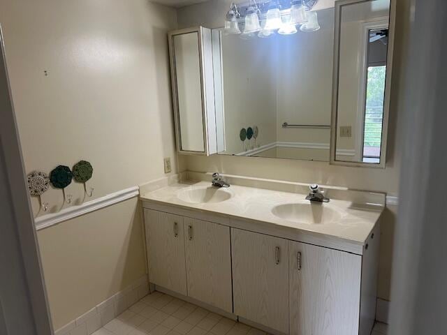
[[[286,221],[309,225],[331,223],[342,218],[342,214],[328,207],[327,204],[315,202],[280,204],[273,207],[272,213]]]

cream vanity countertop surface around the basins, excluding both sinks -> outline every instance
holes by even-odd
[[[222,191],[232,195],[231,198],[223,202],[191,203],[177,197],[179,192],[188,188],[209,187],[211,187],[209,181],[184,181],[142,194],[140,199],[184,209],[205,211],[210,214],[220,214],[230,218],[261,221],[279,228],[292,228],[300,233],[341,239],[361,246],[365,245],[383,211],[383,205],[380,204],[356,204],[347,200],[331,199],[328,203],[316,205],[327,206],[337,211],[339,219],[330,223],[310,224],[288,221],[272,213],[272,209],[280,204],[309,204],[309,201],[305,200],[306,194],[231,185],[229,188],[221,188]]]

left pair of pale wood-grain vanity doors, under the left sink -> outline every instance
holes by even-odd
[[[149,280],[233,312],[230,228],[145,209]]]

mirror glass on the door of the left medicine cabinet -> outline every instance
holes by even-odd
[[[198,32],[173,36],[180,147],[204,151]]]

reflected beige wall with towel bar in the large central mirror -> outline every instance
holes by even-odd
[[[330,124],[334,10],[318,11],[321,29],[277,36],[277,141],[330,142],[329,129],[282,128],[282,124]],[[307,149],[309,151],[309,149]],[[298,156],[298,153],[296,153]],[[303,156],[304,157],[304,156]],[[321,157],[316,154],[315,158]],[[328,158],[327,158],[328,160]]]

